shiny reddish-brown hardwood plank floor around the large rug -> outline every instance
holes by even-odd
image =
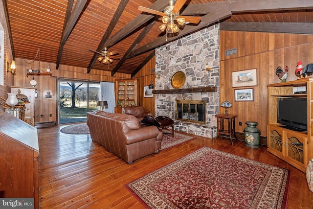
[[[63,134],[62,127],[38,129],[42,209],[144,209],[124,185],[203,146],[290,169],[288,209],[313,208],[305,173],[270,154],[265,146],[253,149],[240,140],[231,145],[229,139],[197,137],[129,165],[90,135]]]

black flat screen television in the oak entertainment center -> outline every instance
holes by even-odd
[[[294,131],[307,131],[307,98],[278,98],[277,123]]]

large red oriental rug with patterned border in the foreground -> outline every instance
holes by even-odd
[[[203,147],[126,187],[152,209],[281,209],[289,170]]]

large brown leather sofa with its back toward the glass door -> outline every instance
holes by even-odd
[[[128,164],[161,149],[162,132],[156,126],[141,127],[135,116],[96,110],[87,113],[87,125],[93,141]]]

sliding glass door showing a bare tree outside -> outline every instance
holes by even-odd
[[[87,121],[87,112],[98,109],[100,83],[59,80],[59,124]]]

